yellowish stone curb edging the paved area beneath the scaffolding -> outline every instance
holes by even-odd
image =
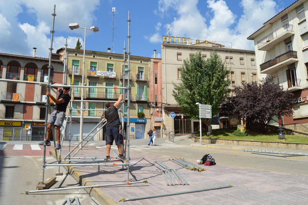
[[[55,150],[51,150],[52,156],[55,157]],[[67,163],[67,162],[66,162]],[[72,166],[63,166],[65,170],[68,171],[69,174],[77,181],[79,182],[80,186],[91,186],[91,185],[97,185],[89,178],[82,178],[83,173],[77,171]],[[108,188],[108,187],[107,187]],[[111,198],[110,195],[106,194],[103,190],[100,188],[87,188],[85,189],[88,194],[92,197],[94,197],[99,203],[101,204],[107,204],[107,205],[118,205],[114,199]]]

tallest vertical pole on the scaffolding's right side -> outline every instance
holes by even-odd
[[[128,11],[128,52],[127,52],[127,59],[128,59],[128,78],[127,78],[127,94],[128,94],[128,99],[127,99],[127,124],[126,124],[126,140],[127,140],[127,181],[129,182],[129,111],[130,111],[130,102],[131,102],[131,90],[129,88],[129,76],[130,76],[130,23],[131,23],[131,20],[130,20],[130,16],[129,16],[129,11]]]

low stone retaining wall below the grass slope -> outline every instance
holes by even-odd
[[[200,142],[200,137],[192,136],[194,142]],[[265,142],[265,141],[245,141],[245,140],[222,140],[222,139],[202,139],[202,143],[205,144],[228,144],[228,145],[240,145],[240,146],[263,146],[274,148],[288,148],[288,149],[300,149],[307,150],[308,144],[304,143],[289,143],[289,142]]]

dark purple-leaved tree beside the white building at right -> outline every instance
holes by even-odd
[[[263,130],[274,116],[293,113],[293,93],[284,91],[275,83],[275,77],[256,82],[242,83],[233,89],[234,97],[227,99],[222,109],[232,118],[245,118],[247,129],[254,123],[261,123]]]

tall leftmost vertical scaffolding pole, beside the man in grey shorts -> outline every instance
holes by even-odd
[[[50,73],[51,73],[51,54],[52,54],[52,41],[54,38],[54,25],[55,25],[55,16],[56,16],[56,5],[54,5],[54,12],[52,15],[52,26],[51,26],[51,39],[50,39],[50,48],[49,48],[49,63],[48,63],[48,81],[46,91],[50,91]],[[49,97],[46,100],[46,112],[45,112],[45,129],[44,129],[44,149],[43,149],[43,166],[42,166],[42,182],[39,184],[44,184],[44,172],[45,172],[45,164],[46,164],[46,140],[47,140],[47,119],[48,119],[48,107],[50,107]]]

